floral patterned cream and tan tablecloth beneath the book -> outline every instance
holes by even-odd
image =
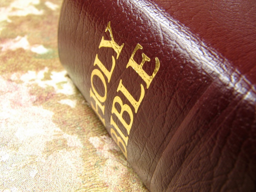
[[[58,58],[61,0],[0,0],[0,191],[147,191]]]

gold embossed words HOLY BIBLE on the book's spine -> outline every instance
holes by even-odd
[[[108,22],[105,32],[107,32],[107,31],[110,33],[110,39],[111,40],[110,41],[105,40],[104,36],[103,36],[101,38],[100,45],[98,46],[98,48],[99,49],[101,47],[112,48],[114,50],[114,52],[116,52],[116,54],[117,54],[116,59],[118,59],[119,55],[122,51],[122,48],[124,46],[124,43],[121,46],[119,46],[114,41],[112,29],[110,27],[110,22]],[[131,66],[136,71],[136,73],[142,78],[142,80],[145,81],[146,88],[148,89],[152,80],[154,79],[156,73],[159,70],[160,62],[159,62],[159,59],[156,57],[155,58],[155,69],[154,69],[151,76],[148,75],[143,70],[143,65],[144,65],[145,62],[150,62],[150,58],[147,57],[144,53],[142,53],[142,61],[141,61],[140,64],[135,62],[135,60],[133,59],[134,55],[135,55],[135,53],[137,52],[138,49],[143,49],[143,47],[139,43],[134,48],[133,53],[132,53],[132,55],[131,55],[131,57],[130,57],[127,65],[126,65],[126,68]],[[105,58],[107,58],[107,56],[108,55],[105,55]],[[111,57],[112,57],[112,65],[111,65],[111,69],[110,69],[110,67],[108,67],[108,65],[103,65],[104,62],[102,63],[100,61],[100,59],[98,58],[98,54],[96,54],[96,57],[95,57],[95,60],[94,60],[94,66],[97,65],[98,67],[96,67],[97,69],[94,69],[91,73],[91,88],[90,88],[91,107],[95,111],[95,113],[98,115],[98,117],[101,119],[104,126],[106,126],[105,118],[104,118],[104,116],[105,116],[104,102],[106,101],[106,98],[107,98],[107,83],[106,83],[105,76],[106,76],[107,81],[109,83],[110,80],[111,80],[111,76],[113,74],[114,68],[116,66],[116,60],[115,60],[114,56],[112,55]],[[107,68],[106,68],[106,66],[107,66]],[[123,72],[123,71],[121,71],[121,72]],[[102,86],[98,85],[98,82],[100,82],[100,81],[102,81],[102,84],[103,84],[103,87],[104,87],[103,89],[105,90],[103,96],[102,96],[103,93],[101,92],[103,90],[100,91],[100,89],[102,89]],[[97,86],[99,86],[99,87],[97,87]],[[99,92],[97,92],[97,90],[95,88],[99,88],[99,89],[97,89]],[[119,146],[119,148],[122,150],[124,156],[127,158],[127,146],[128,146],[127,144],[128,144],[129,134],[130,134],[130,130],[132,128],[133,119],[134,119],[133,112],[132,112],[132,109],[131,109],[132,108],[131,105],[134,107],[135,113],[137,113],[138,108],[139,108],[140,104],[142,103],[142,100],[145,96],[145,89],[143,87],[143,84],[140,84],[140,96],[138,98],[137,95],[136,95],[135,98],[138,99],[138,100],[135,100],[135,98],[132,96],[132,94],[130,94],[130,92],[123,85],[122,79],[121,79],[119,81],[119,85],[117,87],[117,93],[118,94],[119,94],[119,91],[122,92],[122,94],[130,102],[130,104],[129,104],[129,102],[128,102],[129,105],[124,104],[122,99],[119,96],[114,97],[114,100],[113,100],[113,103],[112,103],[112,109],[111,109],[112,114],[110,116],[110,124],[111,124],[110,134],[111,134],[112,138],[114,139],[114,141]],[[121,107],[121,110],[120,110],[120,107],[118,109],[117,105],[118,105],[118,107],[119,106]],[[119,113],[119,111],[120,111],[120,113]],[[115,120],[119,121],[118,123],[113,120],[113,114],[115,114],[115,116],[117,117],[117,118],[115,117]],[[127,116],[127,115],[129,115],[129,116]],[[126,117],[128,117],[128,118],[126,118]],[[119,125],[119,127],[121,126],[120,127],[121,129],[118,127],[117,124]],[[124,130],[124,129],[126,129],[126,130]],[[127,131],[127,133],[126,133],[126,131]]]

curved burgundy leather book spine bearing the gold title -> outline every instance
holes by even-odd
[[[255,85],[164,9],[64,0],[59,56],[151,191],[255,190]]]

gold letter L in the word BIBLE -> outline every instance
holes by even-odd
[[[140,84],[140,88],[141,88],[141,91],[140,91],[140,98],[139,98],[139,101],[136,101],[133,96],[129,93],[129,91],[126,89],[126,87],[124,87],[124,85],[122,84],[122,79],[120,80],[119,82],[119,85],[117,87],[117,92],[118,91],[121,91],[124,96],[126,96],[126,98],[128,99],[128,101],[132,104],[132,106],[134,107],[134,110],[135,110],[135,113],[137,113],[138,111],[138,108],[140,106],[140,103],[142,102],[142,99],[145,95],[145,90],[144,90],[144,87],[142,84]]]

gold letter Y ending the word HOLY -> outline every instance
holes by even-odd
[[[112,30],[111,30],[111,27],[110,27],[110,22],[108,22],[108,25],[107,25],[107,28],[106,28],[105,32],[107,32],[107,31],[110,32],[111,41],[104,40],[104,37],[102,37],[99,49],[101,47],[113,48],[114,51],[117,53],[117,59],[118,59],[119,54],[121,53],[121,50],[122,50],[122,48],[124,46],[124,43],[121,46],[118,46],[118,44],[114,41],[114,37],[113,37]]]

